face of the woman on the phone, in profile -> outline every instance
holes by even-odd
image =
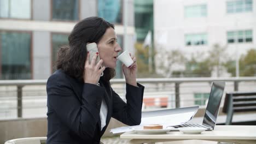
[[[102,66],[106,68],[117,67],[117,56],[121,47],[117,43],[117,35],[112,27],[106,30],[97,46],[100,58],[103,59]]]

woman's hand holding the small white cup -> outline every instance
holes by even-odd
[[[131,53],[129,53],[131,56]],[[136,81],[136,73],[137,73],[137,63],[136,63],[136,57],[131,56],[133,64],[127,68],[123,64],[123,72],[125,75],[125,81],[129,85],[136,86],[137,87],[137,81]]]

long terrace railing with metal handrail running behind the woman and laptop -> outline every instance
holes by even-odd
[[[0,119],[46,117],[46,81],[0,80]],[[256,77],[164,78],[137,81],[145,86],[143,111],[194,105],[203,108],[206,106],[206,94],[210,93],[213,81],[225,81],[225,92],[256,91]],[[113,79],[110,83],[114,91],[125,100],[125,80]],[[225,94],[223,96],[225,97]]]

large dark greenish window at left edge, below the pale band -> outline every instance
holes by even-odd
[[[0,77],[31,79],[31,33],[0,32]]]

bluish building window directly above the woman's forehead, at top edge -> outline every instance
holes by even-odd
[[[98,16],[111,23],[122,22],[122,1],[98,0]]]

